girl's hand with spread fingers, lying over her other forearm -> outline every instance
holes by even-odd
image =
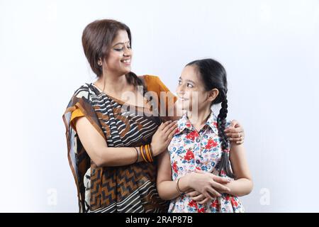
[[[221,196],[219,192],[230,192],[228,187],[223,184],[227,184],[230,181],[223,177],[218,177],[210,172],[203,172],[196,170],[189,174],[189,187],[200,192],[208,199]]]

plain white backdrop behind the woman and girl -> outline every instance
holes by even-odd
[[[0,211],[78,211],[62,114],[94,80],[81,36],[101,18],[130,26],[133,71],[172,91],[187,62],[223,63],[254,178],[248,212],[319,211],[316,0],[0,0]]]

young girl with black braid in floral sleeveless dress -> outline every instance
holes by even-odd
[[[224,133],[230,125],[225,69],[212,59],[190,62],[177,96],[184,116],[168,152],[159,155],[159,196],[171,200],[169,212],[244,212],[237,196],[252,191],[252,178],[245,148]],[[220,103],[216,117],[211,106]]]

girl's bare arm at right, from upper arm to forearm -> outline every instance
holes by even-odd
[[[244,145],[231,143],[230,145],[230,163],[235,175],[235,180],[226,184],[230,189],[228,194],[234,196],[245,196],[252,192],[252,176],[247,164]]]

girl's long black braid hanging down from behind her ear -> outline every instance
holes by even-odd
[[[223,150],[223,153],[220,158],[220,162],[218,162],[218,170],[220,170],[220,172],[223,170],[228,177],[234,178],[233,172],[230,170],[230,162],[229,162],[230,142],[228,140],[227,135],[225,135],[225,132],[224,132],[226,118],[228,114],[227,95],[224,89],[220,89],[219,95],[220,95],[220,99],[223,101],[221,102],[221,109],[217,117],[217,126],[218,126],[218,135],[221,140],[221,148]]]

